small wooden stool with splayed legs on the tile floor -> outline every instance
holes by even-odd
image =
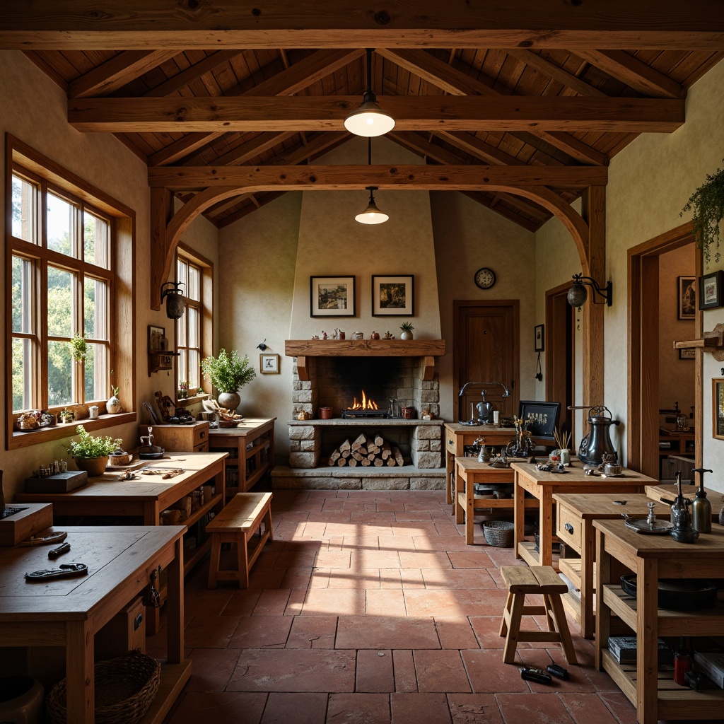
[[[565,660],[576,664],[571,632],[563,613],[560,594],[568,592],[568,586],[560,579],[551,565],[505,565],[500,569],[508,587],[508,601],[500,623],[500,636],[505,636],[502,660],[512,664],[518,641],[558,641],[563,647]],[[542,594],[544,606],[526,606],[526,593]],[[521,630],[521,617],[544,613],[548,631],[538,628]]]

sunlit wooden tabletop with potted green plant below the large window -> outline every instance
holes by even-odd
[[[143,468],[183,469],[167,480],[161,475],[146,475],[142,469],[135,471],[135,480],[119,480],[118,473],[106,471],[70,492],[18,493],[14,502],[51,502],[55,515],[141,515],[143,525],[157,526],[162,510],[209,479],[216,479],[216,494],[224,492],[224,458],[226,452],[171,452],[160,460],[148,460]]]

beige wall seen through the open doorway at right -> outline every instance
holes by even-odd
[[[678,319],[678,277],[695,274],[694,244],[659,256],[659,408],[675,402],[688,415],[694,405],[693,360],[681,360],[674,340],[694,339],[694,320]]]

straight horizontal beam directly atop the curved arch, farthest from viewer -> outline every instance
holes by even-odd
[[[333,134],[321,134],[307,146],[303,152],[308,153],[311,146],[319,143],[323,148],[329,143]],[[578,187],[605,185],[608,170],[602,167],[568,167],[568,166],[476,166],[468,164],[424,166],[422,164],[400,164],[394,167],[367,164],[349,164],[345,166],[308,166],[295,167],[292,159],[300,159],[295,152],[285,156],[286,164],[276,167],[275,164],[264,166],[174,166],[148,169],[148,185],[152,188],[161,186],[169,189],[192,190],[199,187],[215,186],[253,186],[259,190],[276,190],[279,182],[286,185],[297,184],[299,188],[313,188],[316,182],[315,169],[334,177],[335,185],[327,188],[345,190],[363,186],[379,186],[379,188],[419,189],[446,188],[451,190],[483,190],[491,186],[540,186],[555,185],[557,187]],[[281,157],[279,157],[281,160]],[[269,188],[257,186],[258,179],[273,179]],[[294,181],[296,179],[296,181]],[[266,181],[265,181],[266,182]]]

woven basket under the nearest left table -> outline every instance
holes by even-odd
[[[98,662],[96,724],[137,724],[159,691],[161,664],[140,651]],[[65,679],[56,683],[46,699],[51,724],[65,724]]]

